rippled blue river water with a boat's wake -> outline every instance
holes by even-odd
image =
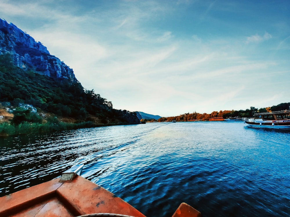
[[[242,122],[110,126],[0,138],[0,196],[84,163],[146,216],[290,216],[290,132]]]

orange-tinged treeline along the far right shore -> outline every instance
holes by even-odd
[[[234,110],[225,110],[225,111],[213,111],[210,114],[207,113],[185,113],[183,115],[175,116],[175,117],[161,117],[157,121],[158,122],[165,122],[165,121],[172,121],[176,120],[177,122],[184,122],[184,121],[193,121],[193,120],[202,120],[206,121],[209,120],[212,117],[222,117],[222,118],[228,118],[228,117],[235,117],[235,116],[240,116],[240,117],[252,117],[254,112],[267,112],[267,111],[282,111],[282,110],[288,110],[290,106],[290,102],[288,103],[281,103],[276,106],[272,107],[267,107],[267,108],[255,108],[255,107],[250,107],[250,109],[246,110],[239,110],[239,111],[234,111]]]

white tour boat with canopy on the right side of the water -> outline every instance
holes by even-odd
[[[290,129],[290,110],[255,113],[244,123],[249,127]]]

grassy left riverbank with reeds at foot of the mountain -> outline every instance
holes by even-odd
[[[33,107],[32,107],[33,108]],[[63,130],[75,130],[101,126],[116,126],[134,124],[126,122],[126,119],[98,118],[86,115],[83,119],[73,117],[57,117],[52,113],[44,113],[31,109],[19,109],[4,107],[0,104],[0,137],[21,135],[30,133],[47,133]]]

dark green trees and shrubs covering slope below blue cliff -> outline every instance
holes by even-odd
[[[114,109],[112,102],[94,90],[84,89],[79,82],[16,67],[9,54],[0,55],[0,78],[0,102],[9,102],[14,108],[19,103],[31,104],[38,112],[70,118],[74,123],[91,122],[96,126],[139,123],[136,113]],[[23,109],[13,113],[13,125],[42,122],[38,113],[29,115]]]

